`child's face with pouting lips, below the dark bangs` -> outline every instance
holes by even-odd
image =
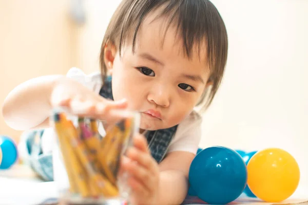
[[[170,26],[164,38],[163,19],[143,22],[136,42],[115,54],[112,66],[114,100],[126,98],[129,109],[141,113],[141,129],[158,130],[179,124],[198,103],[209,69],[206,51],[198,46],[191,59]],[[163,42],[163,44],[162,44]]]

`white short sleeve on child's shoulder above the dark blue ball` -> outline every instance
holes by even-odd
[[[185,151],[196,154],[201,139],[202,117],[192,112],[179,124],[174,138],[170,142],[167,153]]]

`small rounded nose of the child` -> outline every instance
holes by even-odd
[[[147,99],[150,103],[155,103],[156,105],[165,108],[170,105],[170,95],[164,85],[153,86],[147,96]]]

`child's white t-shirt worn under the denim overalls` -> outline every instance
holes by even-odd
[[[102,77],[100,72],[87,75],[81,69],[71,68],[67,73],[67,77],[79,81],[96,93],[99,93],[102,88]],[[176,134],[170,142],[167,153],[173,151],[186,151],[196,154],[201,138],[201,122],[202,117],[195,111],[191,112],[179,124]],[[101,134],[104,135],[103,133]],[[54,135],[52,132],[46,130],[42,136],[42,149],[45,153],[52,149],[50,146],[52,144],[52,139],[50,137],[54,137]]]

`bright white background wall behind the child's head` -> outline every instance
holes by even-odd
[[[99,69],[101,40],[119,2],[86,4],[79,65],[87,72]],[[308,1],[212,2],[225,21],[229,52],[200,146],[285,149],[299,163],[301,183],[308,183]]]

